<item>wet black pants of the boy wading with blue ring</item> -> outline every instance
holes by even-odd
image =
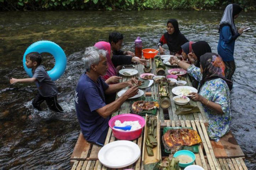
[[[37,110],[41,111],[42,109],[40,104],[44,101],[46,101],[50,110],[53,110],[55,112],[63,112],[63,109],[61,108],[61,106],[59,106],[57,102],[57,95],[52,97],[43,97],[42,95],[37,93],[37,95],[35,96],[35,99],[32,101],[32,105]]]

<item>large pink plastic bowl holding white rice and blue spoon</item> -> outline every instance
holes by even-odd
[[[115,126],[115,121],[139,121],[139,124],[141,124],[141,128],[134,130],[134,131],[120,131],[116,130],[113,127]],[[109,127],[112,129],[113,135],[120,140],[128,140],[132,141],[134,139],[137,139],[143,130],[143,127],[145,126],[145,119],[139,115],[135,114],[122,114],[112,117],[108,122]]]

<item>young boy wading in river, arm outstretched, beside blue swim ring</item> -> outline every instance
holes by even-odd
[[[52,81],[50,76],[45,70],[44,66],[41,66],[42,58],[41,55],[37,52],[28,53],[26,55],[26,66],[32,68],[33,77],[27,79],[14,79],[10,80],[11,84],[17,82],[35,82],[37,86],[38,93],[35,96],[32,104],[33,107],[41,111],[40,104],[43,101],[46,101],[50,110],[55,112],[63,112],[61,106],[57,102],[57,87]]]

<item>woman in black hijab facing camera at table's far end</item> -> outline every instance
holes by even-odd
[[[171,55],[181,55],[182,49],[180,46],[188,42],[187,38],[180,33],[178,21],[170,19],[167,22],[167,32],[162,35],[158,43],[160,54],[164,54],[165,49],[162,48],[163,44],[167,44]]]

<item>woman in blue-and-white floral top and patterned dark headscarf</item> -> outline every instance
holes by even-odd
[[[187,73],[200,81],[198,93],[189,93],[193,101],[202,103],[204,112],[208,113],[208,135],[214,141],[230,130],[230,90],[233,83],[225,77],[225,65],[215,53],[205,53],[200,56],[200,68],[185,62],[177,57],[171,58],[172,63],[186,69]]]

